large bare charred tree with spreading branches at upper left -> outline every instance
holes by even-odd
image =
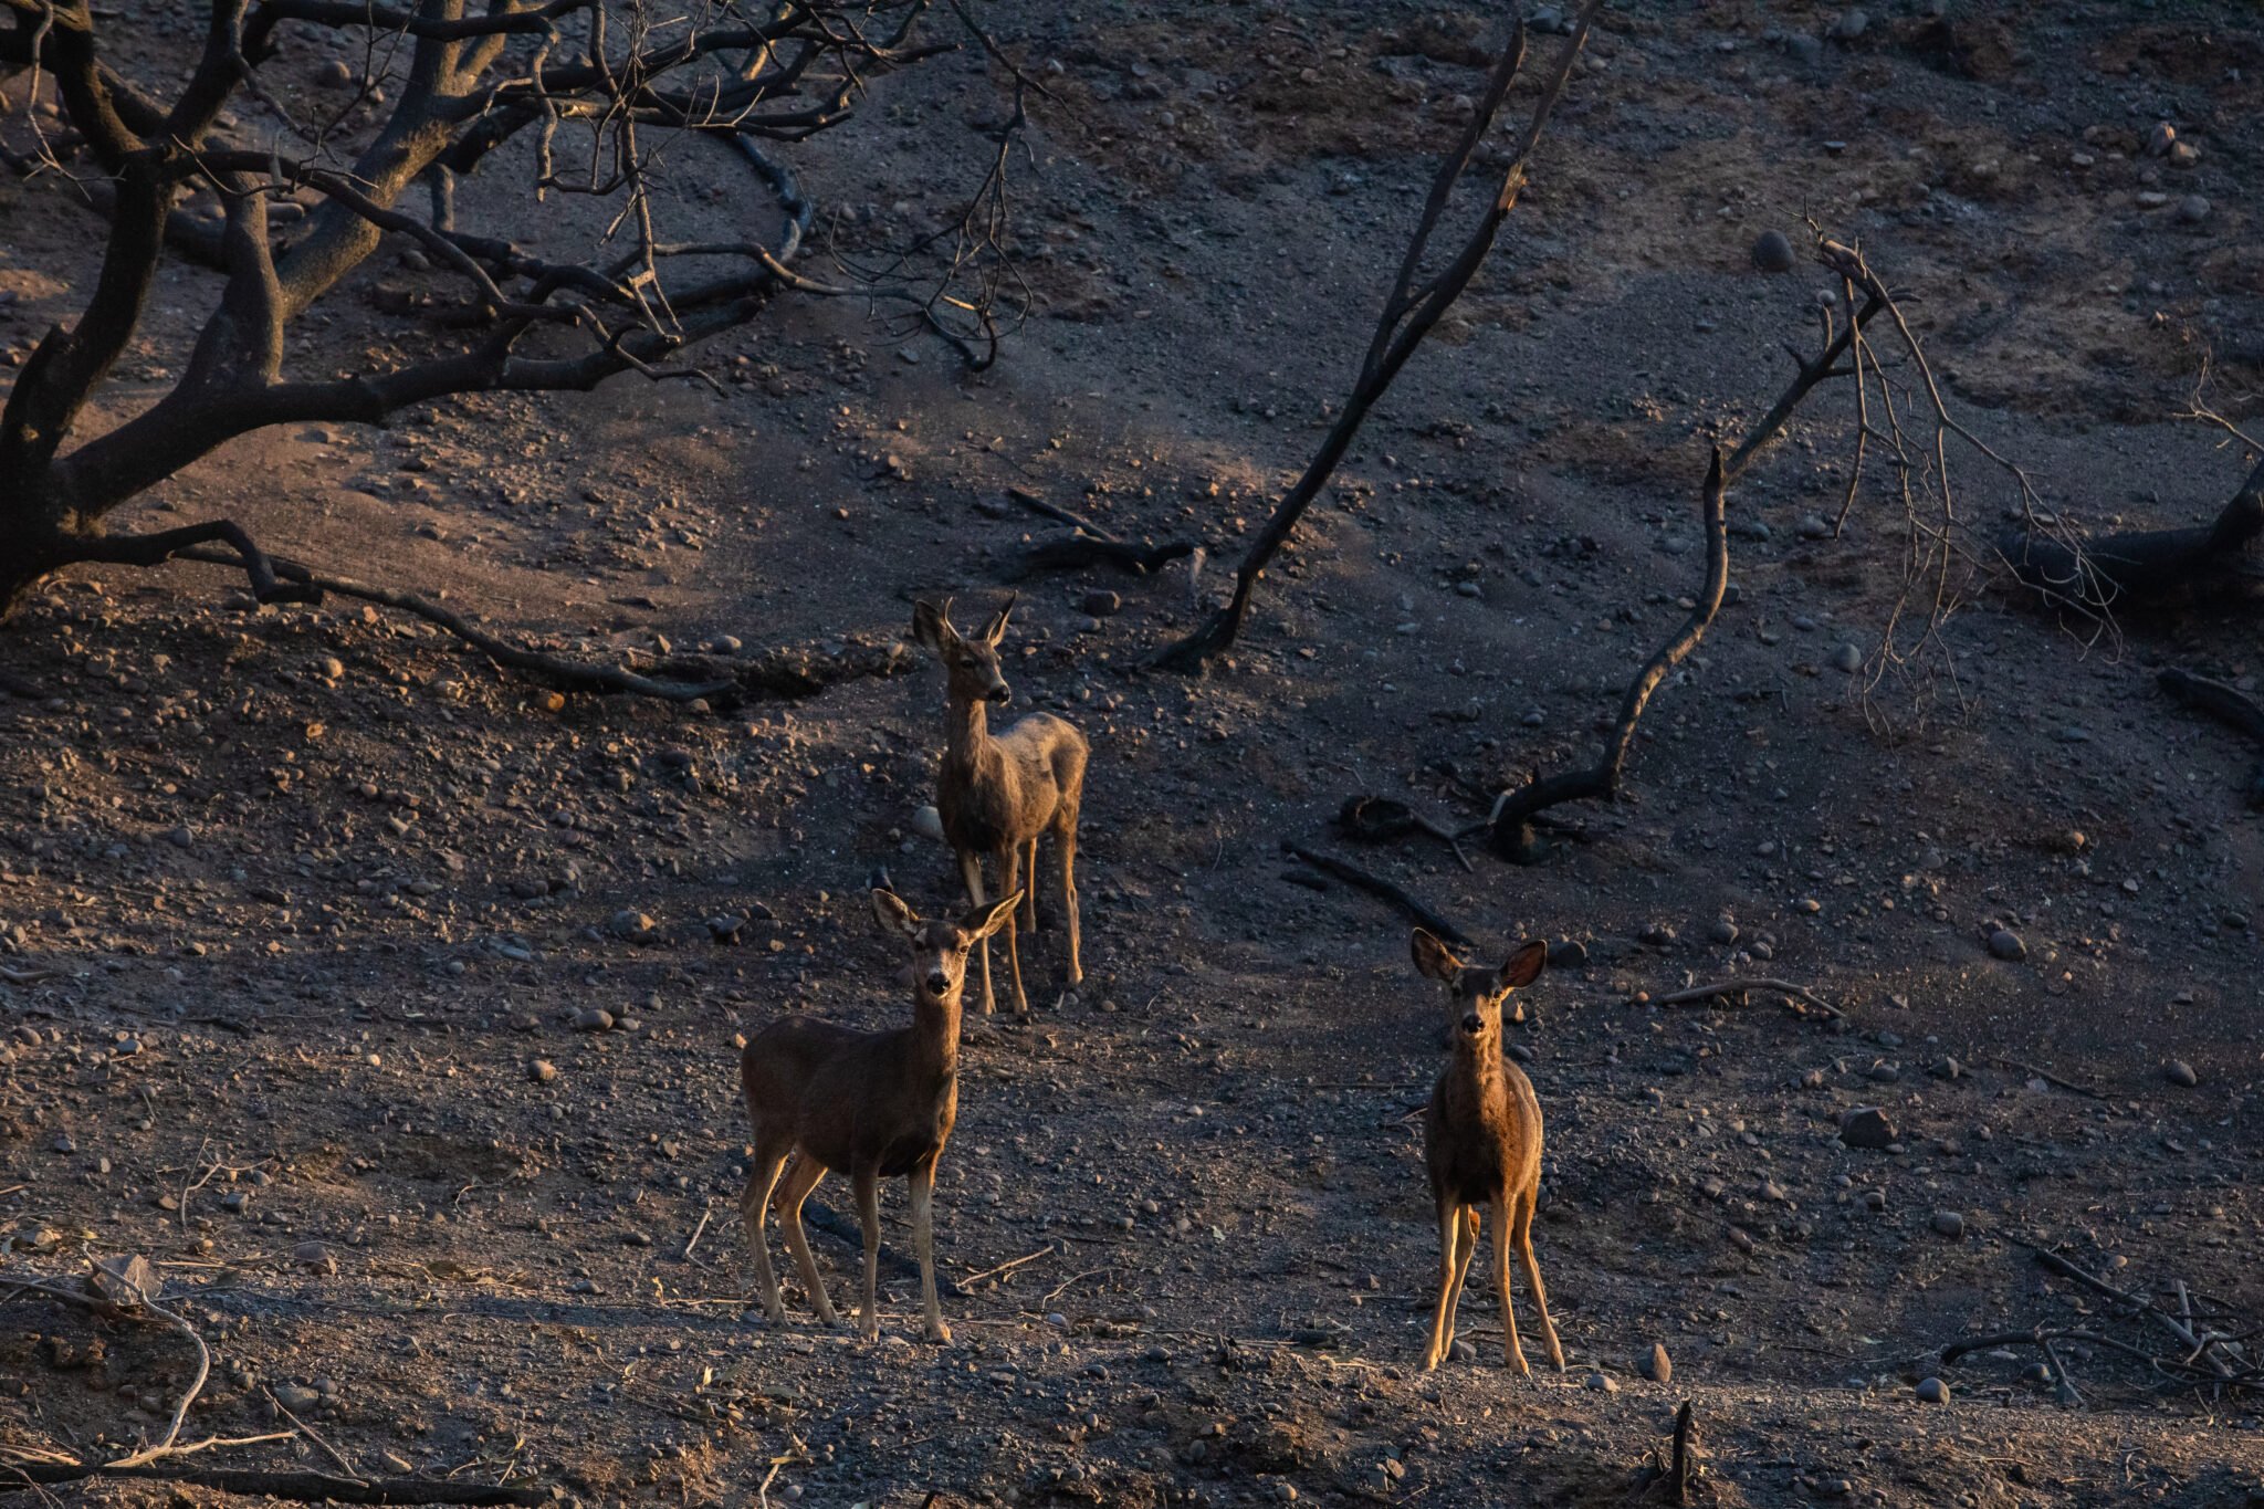
[[[1005,170],[1019,97],[955,235],[840,281],[811,276],[817,206],[781,152],[851,115],[874,79],[949,41],[919,41],[926,0],[849,7],[788,0],[213,0],[201,57],[172,97],[118,72],[125,23],[86,0],[0,0],[0,66],[29,68],[27,109],[0,122],[7,165],[82,201],[106,224],[102,271],[79,317],[54,326],[0,409],[0,615],[72,563],[158,566],[195,554],[240,568],[258,602],[315,602],[319,572],[278,570],[229,518],[113,534],[106,518],[226,441],[283,423],[383,423],[455,394],[591,389],[616,373],[702,378],[679,357],[740,328],[781,292],[899,308],[969,364],[996,351],[998,312],[1021,290],[1003,258]],[[758,16],[758,18],[749,18]],[[962,18],[964,20],[964,18]],[[971,29],[971,23],[967,23]],[[987,38],[983,38],[987,45]],[[310,54],[337,54],[349,88],[319,113],[272,88]],[[358,59],[346,66],[340,59]],[[389,95],[389,97],[387,97]],[[70,124],[50,131],[38,104]],[[238,122],[260,118],[265,138]],[[691,240],[670,224],[704,197],[691,158],[727,143],[754,170],[777,226],[767,240]],[[500,235],[491,206],[460,213],[457,183],[487,167],[546,231],[571,233],[564,201],[598,219],[582,260]],[[423,188],[428,208],[412,208]],[[697,195],[691,190],[700,190]],[[430,269],[437,319],[401,317],[398,362],[321,351],[319,310],[385,238]],[[566,235],[543,235],[557,244]],[[181,376],[122,423],[115,367],[152,339],[149,301],[168,258],[220,274]],[[312,376],[312,369],[346,371]],[[335,590],[346,590],[337,586]],[[419,613],[494,658],[457,615],[414,595],[358,590]],[[659,676],[516,656],[573,690],[691,699]]]

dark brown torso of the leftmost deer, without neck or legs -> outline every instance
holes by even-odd
[[[958,1072],[937,1068],[910,1027],[856,1032],[783,1016],[740,1057],[756,1133],[765,1127],[829,1170],[908,1174],[958,1120]]]

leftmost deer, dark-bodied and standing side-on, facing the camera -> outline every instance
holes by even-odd
[[[858,1222],[865,1228],[865,1310],[858,1330],[867,1342],[881,1333],[881,1181],[901,1174],[912,1188],[912,1247],[919,1256],[926,1335],[931,1342],[951,1339],[935,1303],[935,1161],[944,1154],[960,1109],[960,989],[967,984],[967,950],[996,932],[1019,900],[1012,894],[946,923],[921,921],[894,891],[874,889],[874,916],[910,943],[912,1025],[856,1032],[815,1016],[781,1016],[754,1034],[740,1054],[738,1081],[754,1120],[754,1167],[738,1213],[747,1222],[763,1312],[772,1321],[786,1319],[779,1278],[763,1247],[763,1213],[777,1190],[779,1224],[786,1226],[786,1244],[811,1303],[817,1305],[817,1319],[840,1323],[801,1233],[801,1201],[820,1179],[840,1172],[856,1188]],[[786,1170],[790,1154],[795,1165]]]

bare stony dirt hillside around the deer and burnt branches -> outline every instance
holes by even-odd
[[[1089,980],[1057,1000],[1046,930],[1037,1011],[969,1018],[949,1348],[919,1344],[901,1265],[876,1346],[817,1328],[795,1283],[763,1323],[736,1213],[734,1045],[783,1011],[906,1020],[876,866],[955,903],[915,830],[933,663],[734,710],[550,710],[423,624],[256,611],[201,566],[82,572],[0,633],[48,692],[0,699],[0,966],[54,971],[0,984],[7,1267],[158,1260],[213,1348],[190,1432],[260,1434],[297,1400],[326,1443],[229,1466],[584,1502],[752,1504],[767,1477],[770,1502],[844,1509],[1621,1504],[1660,1502],[1644,1471],[1691,1400],[1700,1502],[2264,1504],[2253,1396],[2110,1344],[2065,1344],[2078,1407],[2033,1346],[1940,1362],[2038,1323],[2182,1351],[2035,1247],[2264,1326],[2255,756],[2153,688],[2162,665],[2253,685],[2250,615],[2087,643],[1976,579],[1947,658],[1863,697],[1838,654],[1877,645],[1904,541],[1877,489],[1843,538],[1802,534],[1847,475],[1852,400],[1825,391],[1732,495],[1739,597],[1662,688],[1628,801],[1573,814],[1585,842],[1463,871],[1331,826],[1361,792],[1476,821],[1483,792],[1594,756],[1698,586],[1705,446],[1813,339],[1823,276],[1748,256],[1802,215],[1911,294],[1947,398],[2074,527],[2230,495],[2253,457],[2178,414],[2196,335],[2228,414],[2264,369],[2264,20],[1936,9],[1614,5],[1481,285],[1202,681],[1137,670],[1195,622],[1184,566],[1017,579],[1053,527],[1007,489],[1198,538],[1200,590],[1223,586],[1343,398],[1481,79],[1476,14],[989,5],[1055,93],[1017,190],[1037,310],[996,369],[779,303],[706,351],[722,396],[623,378],[260,434],[125,520],[229,514],[591,656],[885,647],[919,595],[971,620],[1021,590],[1017,708],[1094,744]],[[136,38],[134,66],[168,45]],[[872,244],[933,224],[996,100],[978,59],[885,79],[806,149],[808,183]],[[2158,120],[2198,158],[2144,156]],[[77,310],[91,224],[0,188],[0,348]],[[383,251],[308,360],[380,360],[376,305],[426,283]],[[179,371],[211,287],[168,276],[120,405]],[[2013,491],[1961,477],[1986,536]],[[1406,921],[1286,837],[1401,882],[1487,959],[1583,946],[1512,1029],[1549,1122],[1567,1376],[1501,1364],[1481,1283],[1476,1357],[1420,1371],[1410,1111],[1440,995]],[[720,916],[747,919],[736,946]],[[1635,1000],[1741,973],[1845,1018]],[[591,1007],[614,1027],[577,1029]],[[1838,1138],[1866,1104],[1890,1147]],[[847,1208],[838,1181],[817,1199]],[[908,1253],[901,1188],[883,1201]],[[854,1247],[817,1249],[840,1303]],[[0,1301],[0,1441],[91,1457],[163,1430],[179,1335]],[[1931,1376],[1947,1403],[1920,1403]]]

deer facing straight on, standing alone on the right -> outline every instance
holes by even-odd
[[[1424,1165],[1431,1170],[1431,1201],[1438,1206],[1438,1314],[1431,1321],[1435,1369],[1453,1346],[1453,1308],[1463,1299],[1463,1276],[1478,1251],[1478,1206],[1494,1213],[1494,1278],[1501,1287],[1501,1335],[1510,1366],[1530,1373],[1517,1346],[1510,1312],[1510,1249],[1526,1269],[1533,1308],[1542,1317],[1549,1360],[1564,1371],[1564,1348],[1549,1323],[1549,1290],[1533,1260],[1533,1204],[1542,1185],[1542,1102],[1533,1081],[1501,1054],[1501,1009],[1512,991],[1533,984],[1549,962],[1546,943],[1526,943],[1499,971],[1465,968],[1435,937],[1415,930],[1415,968],[1447,986],[1456,1007],[1453,1059],[1424,1109]]]

